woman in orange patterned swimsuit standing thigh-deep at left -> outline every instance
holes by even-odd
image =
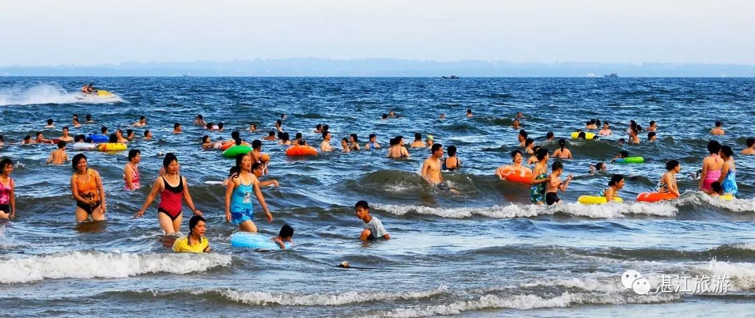
[[[105,189],[97,170],[87,168],[87,157],[83,153],[73,156],[71,193],[76,199],[76,221],[105,220]]]

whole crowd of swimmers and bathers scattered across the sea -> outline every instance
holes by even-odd
[[[473,116],[471,110],[467,110],[467,117]],[[383,119],[387,118],[399,118],[400,115],[390,111],[384,114]],[[445,114],[440,115],[440,119],[444,119]],[[274,130],[270,131],[266,137],[261,138],[267,141],[276,141],[282,145],[307,145],[307,142],[302,137],[301,133],[295,134],[293,140],[290,139],[290,135],[283,129],[283,121],[286,119],[285,114],[282,114],[280,119],[277,119],[274,123]],[[529,137],[529,134],[520,129],[520,122],[523,119],[521,112],[516,114],[516,119],[513,121],[513,128],[519,129],[517,136],[519,140],[519,147],[522,150],[513,150],[510,153],[512,164],[505,165],[498,168],[495,174],[499,178],[504,179],[504,171],[513,171],[517,174],[531,174],[530,184],[530,199],[532,203],[538,205],[553,205],[562,203],[559,199],[558,192],[564,192],[569,187],[569,183],[572,181],[572,175],[566,176],[565,180],[561,179],[563,172],[562,162],[553,162],[550,165],[550,173],[548,173],[548,160],[550,154],[547,149],[535,145],[535,140]],[[74,114],[72,118],[73,127],[79,128],[78,115]],[[94,124],[94,120],[91,115],[86,115],[85,124]],[[223,131],[223,123],[216,124],[212,122],[205,122],[201,115],[196,116],[195,125],[201,126],[208,131]],[[145,127],[147,125],[146,118],[141,116],[137,122],[134,122],[134,127]],[[45,129],[54,129],[54,120],[48,119]],[[320,143],[319,150],[321,152],[334,151],[331,147],[331,132],[328,131],[328,125],[316,125],[315,133],[322,136],[322,142]],[[649,140],[655,140],[655,134],[658,127],[655,122],[651,121],[648,127]],[[592,119],[588,121],[584,127],[584,130],[599,130],[598,136],[609,136],[613,134],[609,122],[600,122],[599,120]],[[257,131],[257,125],[250,123],[250,132]],[[634,121],[630,122],[629,128],[627,128],[628,140],[630,144],[639,144],[637,135],[642,128]],[[108,135],[108,128],[102,127],[100,132],[104,135]],[[181,134],[182,127],[180,123],[174,124],[173,134]],[[127,143],[136,139],[134,131],[127,129],[125,135],[121,129],[117,129],[112,134],[109,134],[109,142],[112,143]],[[651,135],[652,134],[652,135]],[[725,134],[720,122],[715,123],[715,127],[710,130],[710,134],[721,135]],[[233,131],[231,133],[232,140],[236,144],[242,144],[239,131]],[[652,138],[651,138],[652,137]],[[143,140],[150,140],[152,138],[149,130],[143,131]],[[578,131],[578,138],[587,139],[586,131]],[[69,128],[62,128],[61,137],[57,138],[57,149],[51,152],[50,158],[47,163],[60,165],[68,161],[68,156],[65,152],[66,143],[70,141],[75,143],[82,143],[85,141],[85,136],[82,134],[72,137],[69,135]],[[555,140],[555,136],[552,132],[547,132],[546,140]],[[624,140],[621,138],[621,140]],[[620,140],[620,142],[621,142]],[[4,144],[5,140],[0,135],[0,146]],[[214,143],[211,141],[208,135],[202,137],[202,148],[206,150],[219,148],[220,143]],[[26,136],[20,144],[51,144],[52,140],[45,139],[42,132],[37,132],[36,138],[31,139],[31,136]],[[556,149],[552,156],[557,159],[572,159],[574,157],[571,150],[566,147],[566,140],[559,139],[557,141],[559,148]],[[227,176],[223,185],[226,187],[225,191],[225,218],[239,227],[240,231],[244,232],[257,232],[257,226],[254,224],[254,212],[252,208],[253,198],[257,200],[261,210],[265,214],[267,221],[273,221],[273,215],[267,208],[261,187],[273,186],[277,187],[279,184],[275,180],[260,180],[263,175],[267,174],[267,163],[270,157],[261,152],[262,141],[253,140],[251,143],[252,150],[249,153],[241,153],[236,156],[236,162],[233,167],[230,168],[230,173]],[[390,139],[387,149],[387,156],[389,158],[401,159],[408,158],[409,153],[406,150],[405,140],[399,135]],[[433,185],[439,190],[447,191],[449,193],[458,193],[449,187],[448,183],[444,180],[441,171],[454,171],[461,168],[461,159],[457,157],[457,149],[455,146],[448,147],[448,156],[444,157],[444,149],[442,144],[436,143],[432,134],[426,134],[424,140],[421,133],[414,134],[414,140],[408,145],[411,148],[427,148],[430,150],[430,156],[424,160],[421,167],[421,177],[424,178],[429,184]],[[350,134],[348,137],[341,139],[341,151],[350,152],[356,150],[377,150],[381,149],[381,144],[377,142],[377,136],[370,134],[368,141],[363,145],[359,141],[357,134]],[[712,196],[719,196],[728,194],[736,196],[738,193],[738,187],[735,181],[736,165],[733,159],[733,151],[729,146],[722,146],[715,140],[711,140],[708,143],[707,150],[710,156],[707,156],[702,163],[700,172],[700,183],[698,190],[702,190]],[[755,139],[747,139],[747,148],[741,151],[744,155],[755,154]],[[530,155],[528,160],[524,160],[525,155]],[[621,159],[628,156],[627,151],[619,153],[617,158]],[[140,150],[133,149],[128,152],[128,163],[123,168],[123,180],[124,190],[132,191],[142,187],[140,180],[140,172],[138,165],[141,161]],[[94,168],[88,168],[87,157],[85,153],[78,153],[70,160],[72,165],[72,175],[70,178],[70,188],[73,198],[76,202],[75,219],[76,221],[103,221],[106,215],[106,193],[103,188],[103,182],[100,174]],[[527,165],[534,165],[529,168]],[[0,218],[14,218],[17,215],[15,208],[15,195],[14,195],[14,181],[11,178],[11,172],[13,171],[14,164],[11,159],[3,158],[0,161]],[[590,167],[591,171],[596,173],[605,172],[607,170],[606,164],[599,162],[596,165]],[[658,181],[656,191],[659,193],[672,193],[673,196],[680,196],[680,189],[676,185],[676,174],[680,172],[680,162],[676,160],[670,160],[666,163],[666,172],[661,176]],[[183,205],[184,202],[190,211],[193,213],[193,217],[189,222],[189,233],[187,236],[183,236],[176,239],[174,242],[174,250],[177,252],[208,252],[209,242],[204,236],[205,233],[205,219],[203,218],[202,211],[194,204],[190,190],[189,182],[186,177],[180,173],[180,165],[177,156],[174,153],[165,154],[162,159],[162,169],[159,171],[158,177],[153,181],[152,190],[144,199],[144,203],[139,211],[134,214],[134,218],[141,218],[146,210],[152,205],[153,201],[158,199],[157,218],[159,225],[166,235],[176,235],[180,233],[180,226],[183,218]],[[613,174],[607,187],[598,193],[598,196],[606,198],[607,202],[611,202],[615,196],[618,196],[618,191],[624,187],[624,177],[621,174]],[[359,201],[354,206],[357,218],[365,223],[362,233],[359,235],[360,239],[373,239],[373,238],[390,238],[390,235],[384,229],[383,224],[377,218],[369,214],[369,205],[365,201]],[[279,231],[278,236],[273,236],[271,240],[279,245],[282,249],[285,248],[286,242],[291,242],[294,229],[288,224],[284,225]]]

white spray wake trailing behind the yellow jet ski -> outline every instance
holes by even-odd
[[[79,92],[69,93],[63,88],[55,85],[35,85],[25,88],[23,91],[2,91],[0,92],[0,106],[7,105],[33,105],[42,103],[115,103],[122,102],[121,97],[110,98],[85,98],[79,100]]]

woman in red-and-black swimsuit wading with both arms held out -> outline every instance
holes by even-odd
[[[165,159],[162,159],[162,166],[165,168],[165,175],[159,176],[152,185],[152,192],[146,196],[146,202],[142,208],[134,215],[134,218],[141,218],[144,211],[155,200],[157,193],[160,193],[160,204],[157,207],[157,219],[160,221],[160,227],[165,231],[165,235],[175,235],[181,227],[181,218],[183,200],[189,205],[195,215],[202,216],[202,212],[196,209],[196,205],[189,194],[189,184],[186,177],[178,174],[178,159],[173,153],[166,153]]]

